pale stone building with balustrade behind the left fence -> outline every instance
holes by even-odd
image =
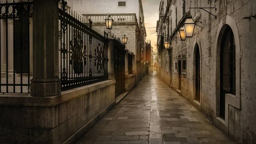
[[[141,0],[73,0],[73,9],[82,14],[85,20],[92,20],[92,26],[100,31],[107,31],[105,18],[113,18],[114,37],[128,37],[126,49],[135,55],[134,73],[136,83],[145,75],[145,47],[146,31],[144,23],[143,6]],[[108,31],[110,32],[110,31]]]

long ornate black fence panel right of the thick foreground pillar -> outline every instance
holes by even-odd
[[[63,9],[59,9],[61,89],[107,80],[108,39],[105,33],[86,26],[73,12],[65,12],[65,6]]]

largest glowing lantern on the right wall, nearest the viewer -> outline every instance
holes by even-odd
[[[184,31],[187,38],[193,37],[194,29],[195,29],[195,21],[192,19],[191,15],[187,16],[187,19],[184,23]]]

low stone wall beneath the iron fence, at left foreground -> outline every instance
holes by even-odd
[[[74,143],[115,105],[115,80],[54,97],[0,95],[0,143]]]

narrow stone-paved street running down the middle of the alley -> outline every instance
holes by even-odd
[[[235,144],[185,98],[147,75],[77,144]]]

